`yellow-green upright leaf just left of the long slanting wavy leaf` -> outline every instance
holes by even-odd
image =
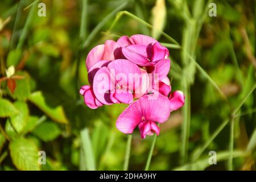
[[[11,125],[13,125],[14,129],[17,133],[22,133],[27,124],[28,119],[28,107],[26,102],[16,101],[14,106],[19,110],[18,114],[12,115]]]

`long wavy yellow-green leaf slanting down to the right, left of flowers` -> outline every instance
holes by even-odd
[[[42,92],[34,92],[28,97],[28,100],[30,100],[33,104],[39,107],[46,115],[48,115],[49,118],[51,118],[53,121],[68,124],[68,119],[65,116],[64,110],[62,106],[57,107],[51,107],[46,104],[46,100],[42,94]]]

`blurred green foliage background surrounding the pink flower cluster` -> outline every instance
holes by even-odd
[[[115,121],[127,105],[89,109],[79,88],[90,49],[133,34],[169,48],[172,90],[186,96],[160,125],[150,169],[255,169],[255,1],[0,3],[0,170],[122,170],[127,136]],[[129,169],[144,169],[151,143],[135,130]]]

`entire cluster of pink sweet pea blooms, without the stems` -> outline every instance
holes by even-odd
[[[146,35],[122,36],[94,47],[86,58],[90,85],[80,89],[85,104],[91,109],[129,104],[117,119],[117,129],[131,134],[138,126],[143,139],[159,135],[156,122],[167,121],[185,98],[181,91],[171,93],[168,56],[166,47]]]

